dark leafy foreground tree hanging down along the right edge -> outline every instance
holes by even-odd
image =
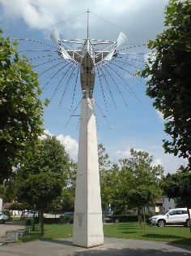
[[[149,41],[152,54],[142,76],[148,78],[146,94],[163,113],[166,153],[189,159],[191,169],[191,5],[190,0],[171,0],[165,10],[168,27]]]

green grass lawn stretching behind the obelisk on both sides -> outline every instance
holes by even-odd
[[[46,240],[55,238],[72,237],[73,225],[71,224],[45,224],[45,235],[40,235],[40,226],[36,225],[36,231],[23,236],[19,241]],[[117,223],[104,224],[104,236],[120,237],[138,240],[152,240],[174,242],[179,244],[191,245],[191,233],[189,228],[169,227],[164,228],[150,227],[146,225],[145,232],[138,223]]]

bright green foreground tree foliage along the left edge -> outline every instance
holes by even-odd
[[[37,74],[28,59],[19,57],[17,45],[0,30],[0,184],[43,132]]]

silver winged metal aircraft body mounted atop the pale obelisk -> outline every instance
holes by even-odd
[[[90,39],[86,40],[61,40],[57,31],[51,35],[53,41],[58,45],[57,53],[66,60],[72,60],[80,64],[80,80],[83,91],[83,97],[88,95],[92,98],[95,85],[96,66],[102,66],[112,58],[117,57],[117,48],[127,39],[124,33],[120,33],[117,41],[103,41]],[[73,50],[66,43],[80,44],[81,50]],[[96,46],[107,46],[104,50],[96,50]]]

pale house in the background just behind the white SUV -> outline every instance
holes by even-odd
[[[159,212],[159,211],[166,211],[169,209],[176,208],[175,201],[173,198],[168,198],[167,196],[160,196],[155,206],[146,206],[146,211],[151,212]]]

